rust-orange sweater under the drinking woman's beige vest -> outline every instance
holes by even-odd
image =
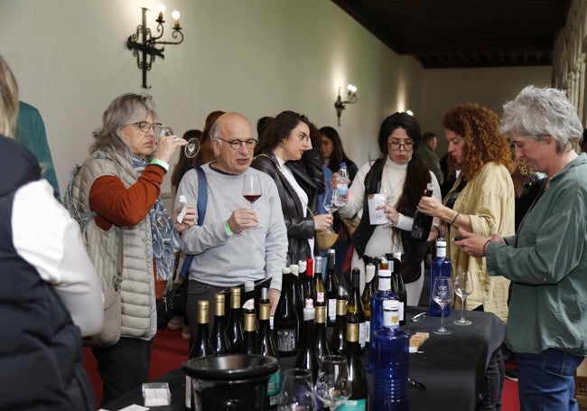
[[[89,208],[98,215],[94,219],[100,229],[110,229],[112,224],[121,227],[135,226],[153,207],[161,193],[165,172],[156,165],[147,165],[132,186],[126,188],[116,175],[98,177],[89,190]],[[163,295],[165,281],[157,280],[156,266],[155,296]]]

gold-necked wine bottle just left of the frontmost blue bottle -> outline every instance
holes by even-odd
[[[368,385],[365,371],[360,363],[359,318],[356,314],[347,315],[347,363],[352,391],[343,410],[368,410]]]

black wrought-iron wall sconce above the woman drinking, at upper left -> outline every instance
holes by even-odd
[[[183,42],[183,33],[182,27],[180,27],[180,12],[174,11],[172,13],[174,20],[172,38],[175,39],[175,42],[159,42],[159,39],[163,37],[163,23],[165,23],[163,20],[163,13],[165,13],[165,6],[159,5],[159,16],[155,20],[155,22],[157,22],[157,33],[159,33],[159,35],[156,37],[153,37],[151,29],[146,26],[146,12],[149,9],[146,7],[142,7],[142,9],[143,23],[136,26],[135,34],[128,36],[126,47],[128,47],[128,50],[133,51],[133,55],[136,57],[136,65],[139,70],[143,70],[143,88],[151,89],[151,87],[146,84],[146,72],[151,70],[151,65],[155,60],[155,56],[159,56],[162,59],[165,58],[163,56],[165,48],[162,47],[161,49],[158,49],[156,45],[179,44]]]

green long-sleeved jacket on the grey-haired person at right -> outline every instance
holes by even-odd
[[[489,243],[491,276],[512,281],[508,347],[587,354],[587,154],[554,175],[508,246]]]

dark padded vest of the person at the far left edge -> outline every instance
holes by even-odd
[[[0,136],[0,173],[0,409],[95,410],[79,328],[14,249],[14,193],[41,177],[39,164],[23,145]]]

